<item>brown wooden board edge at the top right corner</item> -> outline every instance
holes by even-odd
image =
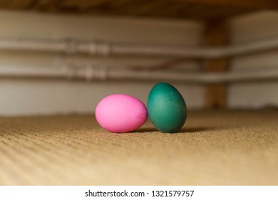
[[[192,4],[210,4],[215,6],[235,6],[249,9],[278,9],[277,0],[175,0]]]

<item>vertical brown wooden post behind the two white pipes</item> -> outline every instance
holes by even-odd
[[[204,46],[223,46],[228,43],[227,24],[222,20],[207,22],[204,33]],[[207,72],[227,71],[228,59],[207,59],[202,61]],[[227,84],[207,84],[205,86],[205,108],[224,109],[227,106]]]

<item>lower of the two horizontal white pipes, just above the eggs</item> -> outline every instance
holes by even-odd
[[[177,73],[170,71],[134,71],[92,66],[0,66],[0,77],[68,78],[91,80],[181,81],[193,84],[217,84],[238,81],[278,80],[278,68],[225,73]]]

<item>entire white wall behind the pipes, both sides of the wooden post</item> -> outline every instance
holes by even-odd
[[[96,16],[70,16],[0,11],[0,37],[42,39],[107,39],[146,44],[199,46],[203,26],[192,21],[127,19]],[[278,13],[263,11],[229,21],[231,44],[278,36]],[[118,63],[148,66],[165,59],[136,57],[84,57],[63,54],[38,54],[0,51],[1,65],[59,65],[64,60],[80,63]],[[180,66],[190,71],[200,68],[196,61]],[[278,67],[278,49],[232,59],[231,70]],[[81,82],[69,80],[1,79],[0,116],[90,113],[98,101],[113,93],[125,93],[146,103],[154,82]],[[203,87],[176,84],[189,109],[202,108]],[[231,84],[230,108],[278,106],[278,82]]]

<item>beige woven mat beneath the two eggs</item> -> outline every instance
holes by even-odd
[[[0,118],[1,185],[278,185],[277,111],[190,111],[182,132],[93,115]]]

